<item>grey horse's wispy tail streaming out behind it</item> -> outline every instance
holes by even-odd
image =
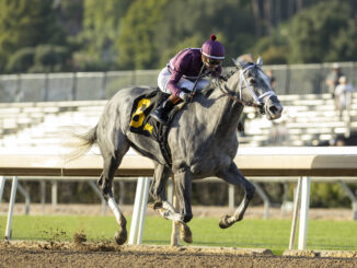
[[[84,133],[70,130],[70,141],[66,142],[66,147],[73,148],[73,150],[65,155],[66,162],[79,159],[96,143],[96,127]]]

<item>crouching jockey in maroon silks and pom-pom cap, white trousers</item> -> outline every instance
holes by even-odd
[[[185,48],[173,57],[161,70],[158,84],[161,91],[170,93],[170,97],[152,112],[151,117],[168,123],[169,112],[181,100],[189,102],[192,91],[201,90],[209,84],[207,75],[219,75],[224,59],[224,47],[211,35],[201,48]]]

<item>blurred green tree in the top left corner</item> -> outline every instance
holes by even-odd
[[[38,44],[66,43],[53,0],[0,0],[0,58]]]

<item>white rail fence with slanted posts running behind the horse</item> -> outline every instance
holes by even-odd
[[[357,180],[357,148],[242,148],[234,162],[242,173],[253,182],[298,182],[295,210],[291,224],[289,249],[295,245],[296,225],[300,209],[300,231],[298,249],[306,249],[308,234],[308,214],[310,183],[338,182],[353,201],[356,214],[357,198],[344,182]],[[0,154],[0,199],[4,176],[13,176],[9,203],[5,236],[11,238],[12,211],[18,188],[18,177],[38,176],[64,178],[97,177],[102,171],[102,158],[85,155],[71,163],[65,163],[59,155],[15,155]],[[139,177],[129,234],[129,244],[140,244],[148,199],[149,178],[153,174],[153,163],[138,155],[126,155],[116,176]],[[301,187],[301,188],[300,188]],[[257,190],[260,191],[260,190]],[[264,193],[261,193],[261,196]],[[299,201],[301,199],[301,201]],[[173,224],[174,225],[174,224]],[[174,229],[173,229],[174,233]],[[172,236],[172,244],[178,240]]]

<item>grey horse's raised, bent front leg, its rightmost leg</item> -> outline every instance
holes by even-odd
[[[218,177],[224,179],[229,184],[240,185],[244,189],[244,197],[233,215],[223,215],[219,221],[219,226],[226,229],[231,226],[234,222],[241,221],[245,210],[254,196],[255,188],[243,174],[238,170],[237,165],[232,163],[229,168],[220,171],[216,174]]]

